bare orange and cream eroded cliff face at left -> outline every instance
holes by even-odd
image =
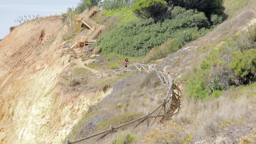
[[[61,143],[88,106],[110,92],[63,88],[67,31],[61,20],[26,22],[0,41],[0,143]]]

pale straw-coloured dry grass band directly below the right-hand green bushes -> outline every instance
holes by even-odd
[[[174,119],[187,125],[195,136],[206,136],[221,131],[229,123],[255,122],[256,83],[230,89],[218,99],[206,102],[185,98],[182,112]]]

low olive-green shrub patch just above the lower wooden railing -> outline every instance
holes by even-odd
[[[101,121],[98,123],[97,131],[109,129],[110,125],[117,127],[118,125],[130,122],[139,116],[141,116],[141,113],[121,113],[119,115],[112,116],[106,121]]]

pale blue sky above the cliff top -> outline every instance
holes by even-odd
[[[9,34],[11,26],[20,25],[14,22],[24,15],[49,15],[65,12],[68,7],[76,7],[80,0],[0,0],[0,39]]]

